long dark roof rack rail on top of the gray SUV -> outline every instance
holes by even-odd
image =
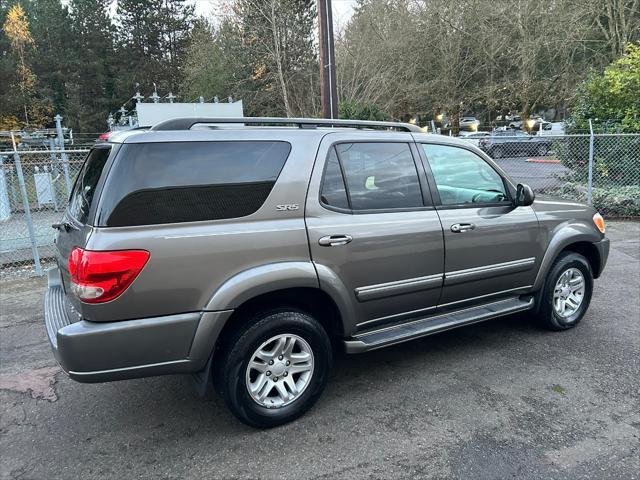
[[[190,130],[198,124],[242,123],[249,125],[296,125],[298,128],[317,127],[352,127],[395,129],[404,132],[423,132],[422,128],[410,123],[374,122],[370,120],[338,120],[332,118],[277,118],[277,117],[240,117],[240,118],[212,118],[212,117],[182,117],[165,120],[151,130]]]

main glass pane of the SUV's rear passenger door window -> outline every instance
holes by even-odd
[[[422,207],[422,191],[406,143],[336,145],[353,210]]]

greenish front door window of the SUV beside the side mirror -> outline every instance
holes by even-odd
[[[443,205],[503,202],[509,199],[502,177],[469,150],[422,144]]]

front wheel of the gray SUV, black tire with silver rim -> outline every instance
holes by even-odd
[[[567,299],[564,304],[567,310],[565,310],[564,315],[562,315],[559,313],[556,305],[556,287],[559,284],[559,280],[563,277],[563,281],[568,280],[570,283],[575,283],[580,275],[584,281],[583,293],[582,295],[574,294],[571,299]],[[567,285],[567,288],[576,288],[576,286],[577,284],[575,286]],[[558,289],[560,299],[568,292],[565,287],[562,288],[564,290]],[[580,323],[580,320],[582,320],[582,317],[584,317],[584,314],[589,308],[592,293],[593,272],[588,260],[578,253],[565,252],[560,254],[549,270],[545,280],[542,295],[540,296],[540,309],[537,316],[538,324],[552,331],[568,330],[575,327]],[[575,311],[572,311],[575,298],[578,297],[581,298],[579,306]],[[562,309],[562,304],[560,309]]]

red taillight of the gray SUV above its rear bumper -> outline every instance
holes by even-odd
[[[71,291],[83,302],[103,303],[120,296],[149,260],[146,250],[91,251],[69,255]]]

